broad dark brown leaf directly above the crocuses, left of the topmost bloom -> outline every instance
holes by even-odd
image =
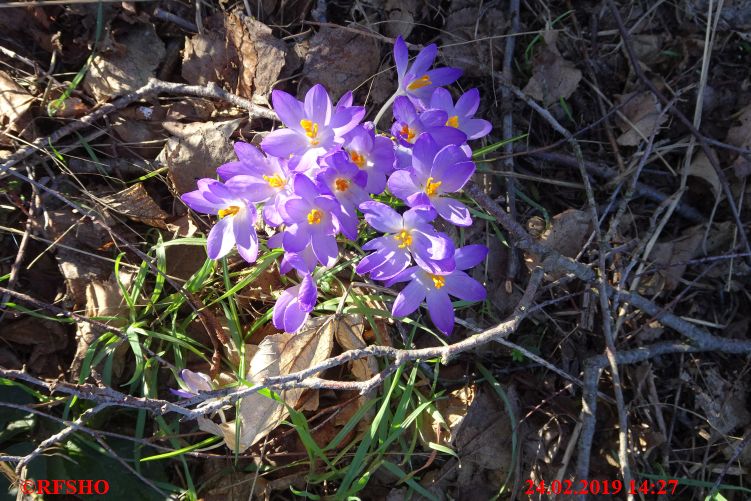
[[[378,71],[380,49],[373,37],[323,27],[310,40],[303,75],[333,97],[358,88]]]

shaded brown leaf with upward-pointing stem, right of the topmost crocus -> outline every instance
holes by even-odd
[[[545,35],[547,45],[535,56],[532,78],[524,87],[526,94],[542,101],[545,106],[557,103],[561,98],[568,99],[582,79],[582,72],[576,65],[558,52],[556,38],[553,32]]]

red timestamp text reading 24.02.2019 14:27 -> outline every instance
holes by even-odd
[[[651,494],[673,495],[678,488],[678,480],[631,480],[625,483],[621,480],[526,480],[524,494],[545,495],[619,495],[619,494]]]

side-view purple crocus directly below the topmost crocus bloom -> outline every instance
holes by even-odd
[[[446,125],[448,114],[443,110],[426,110],[418,113],[408,98],[399,96],[394,101],[394,125],[391,134],[402,146],[411,147],[421,134],[426,133],[441,144],[462,144],[467,136]]]

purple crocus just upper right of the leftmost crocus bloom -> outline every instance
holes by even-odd
[[[237,162],[220,166],[222,179],[232,179],[235,186],[253,194],[253,202],[265,202],[263,217],[271,226],[282,224],[279,206],[292,194],[292,173],[287,160],[267,157],[252,144],[235,143]]]

